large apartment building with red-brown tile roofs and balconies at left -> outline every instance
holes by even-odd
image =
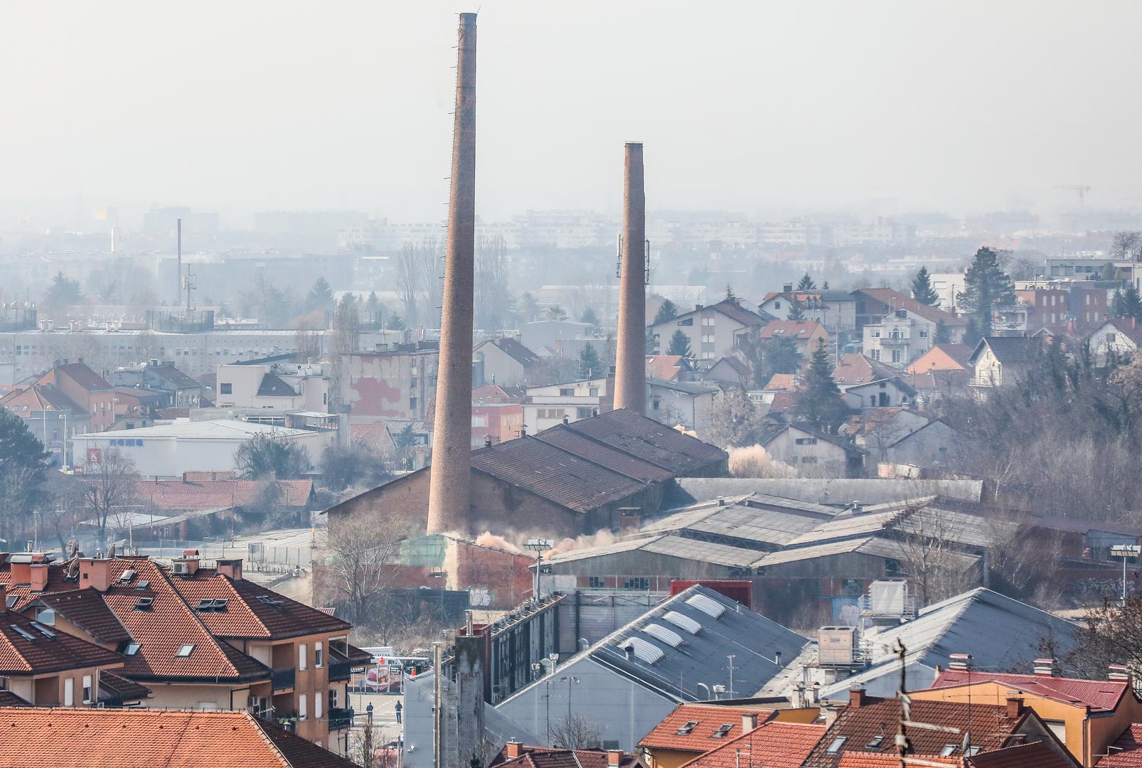
[[[241,560],[200,565],[193,550],[169,569],[77,554],[42,585],[19,583],[16,562],[0,577],[14,610],[118,650],[120,677],[151,689],[146,706],[248,710],[344,753],[346,685],[369,659],[346,642],[349,624],[243,579]]]

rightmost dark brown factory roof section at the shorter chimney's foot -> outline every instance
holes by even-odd
[[[716,446],[627,408],[572,422],[569,426],[579,434],[661,466],[675,475],[701,472],[729,458]]]

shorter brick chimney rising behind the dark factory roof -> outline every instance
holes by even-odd
[[[614,407],[646,410],[646,193],[642,144],[627,144],[622,178],[622,262]]]

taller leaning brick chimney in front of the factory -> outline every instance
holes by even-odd
[[[428,533],[466,533],[472,498],[472,314],[476,243],[476,15],[460,14],[444,304]]]

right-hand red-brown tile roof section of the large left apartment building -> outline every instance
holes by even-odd
[[[348,632],[352,625],[246,579],[232,581],[212,568],[193,576],[172,576],[170,583],[186,603],[225,600],[223,610],[196,611],[218,638],[295,638],[320,632]]]

